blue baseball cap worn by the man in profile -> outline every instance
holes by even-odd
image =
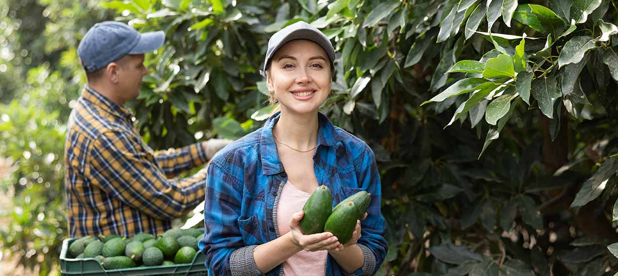
[[[125,23],[105,21],[87,31],[77,46],[77,55],[86,72],[95,72],[126,54],[155,51],[164,41],[163,31],[139,33]]]

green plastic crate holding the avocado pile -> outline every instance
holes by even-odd
[[[60,253],[60,275],[83,275],[83,276],[138,276],[138,275],[161,275],[161,276],[198,276],[206,275],[204,266],[206,256],[198,251],[190,264],[175,264],[174,266],[144,266],[129,269],[104,270],[101,264],[94,258],[73,259],[67,257],[70,244],[78,238],[67,238],[62,241]]]

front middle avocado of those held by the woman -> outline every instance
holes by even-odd
[[[356,227],[358,208],[353,201],[339,203],[332,210],[332,214],[326,220],[324,232],[331,232],[337,236],[339,243],[344,244],[352,238],[352,232]]]

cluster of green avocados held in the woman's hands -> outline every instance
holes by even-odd
[[[363,218],[371,202],[371,194],[359,191],[341,201],[334,208],[332,195],[328,187],[319,186],[307,199],[300,220],[300,230],[305,235],[331,232],[344,244],[352,238],[356,221]]]

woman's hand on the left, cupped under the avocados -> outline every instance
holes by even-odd
[[[296,212],[290,219],[290,232],[292,233],[292,241],[299,249],[305,251],[321,251],[333,250],[342,246],[337,237],[330,232],[316,233],[312,235],[303,235],[300,231],[300,220],[303,218],[304,212]],[[360,233],[360,230],[359,230]]]

